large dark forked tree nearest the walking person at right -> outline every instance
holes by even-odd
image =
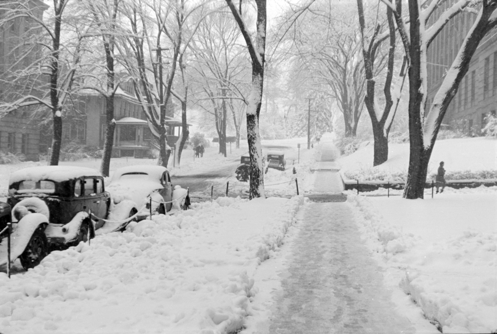
[[[409,15],[402,12],[402,0],[389,6],[399,29],[409,63],[409,170],[404,197],[423,198],[428,162],[443,116],[456,95],[469,63],[485,34],[497,25],[497,0],[457,0],[443,10],[443,0],[409,0]],[[438,8],[440,14],[429,20]],[[475,21],[459,47],[457,56],[445,74],[433,103],[426,109],[428,47],[442,28],[462,11],[476,13]]]

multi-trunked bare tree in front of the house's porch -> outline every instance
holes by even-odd
[[[204,7],[203,3],[188,6],[187,2],[134,0],[123,10],[133,37],[121,46],[120,53],[129,55],[124,63],[134,78],[136,97],[147,116],[149,128],[159,140],[159,164],[165,167],[171,151],[166,141],[166,106],[171,95],[180,101],[182,99],[180,94],[172,93],[173,80],[178,62],[182,62],[186,47],[200,23],[190,24],[191,14],[196,10],[202,11]],[[169,67],[166,74],[165,66]],[[180,70],[184,70],[182,65]],[[188,136],[186,109],[183,111],[180,144],[184,144]]]

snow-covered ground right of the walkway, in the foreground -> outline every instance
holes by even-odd
[[[443,333],[497,331],[497,226],[475,216],[496,209],[495,189],[486,190],[453,190],[433,200],[348,194],[373,256],[388,268],[386,282],[411,295]]]

